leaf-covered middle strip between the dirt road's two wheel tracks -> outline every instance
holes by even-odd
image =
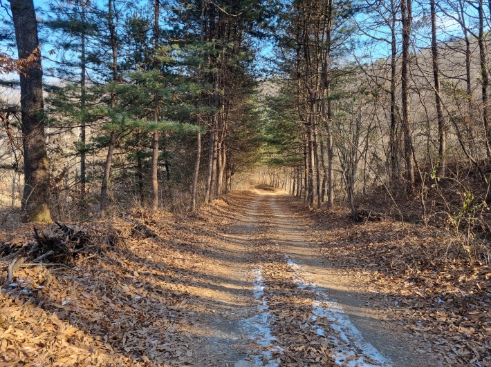
[[[268,215],[270,209],[263,206],[259,212],[266,225],[257,229],[253,256],[261,264],[265,298],[272,314],[272,335],[280,347],[274,350],[273,357],[281,366],[334,366],[333,345],[311,325],[315,295],[308,288],[298,288],[295,275],[277,244],[275,224]],[[324,325],[328,332],[328,320],[319,317],[315,324]]]

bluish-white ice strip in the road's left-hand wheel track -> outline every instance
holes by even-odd
[[[277,349],[281,351],[281,347],[273,344],[276,339],[271,335],[270,320],[272,315],[269,311],[268,302],[263,294],[264,285],[263,277],[261,276],[261,268],[252,270],[252,275],[254,277],[252,290],[257,306],[255,315],[243,320],[243,330],[246,330],[250,339],[254,339],[257,344],[263,346],[266,350],[263,350],[261,355],[254,356],[252,361],[238,361],[235,363],[234,367],[278,367],[279,364],[277,364],[276,361],[271,361],[272,350]],[[263,364],[263,359],[268,359],[268,363]]]

